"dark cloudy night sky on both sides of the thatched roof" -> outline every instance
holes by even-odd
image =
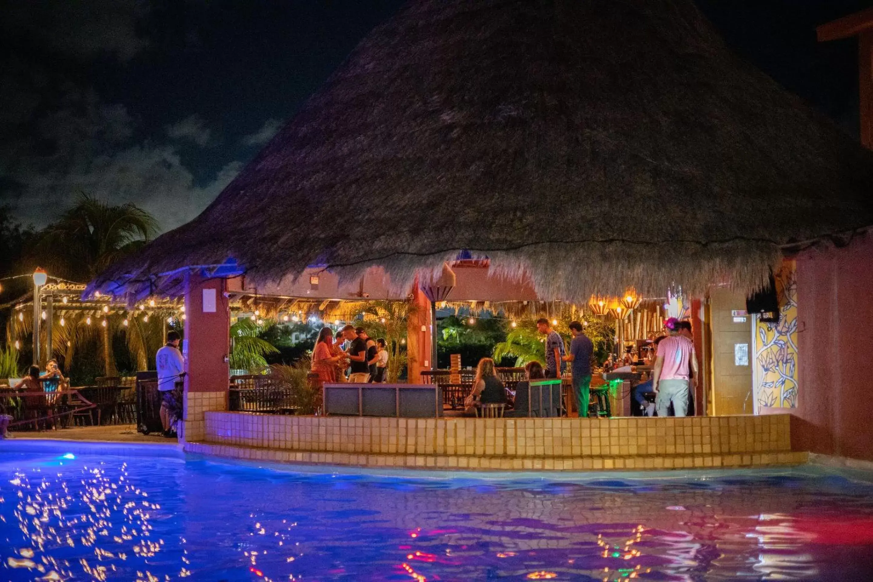
[[[79,191],[162,229],[202,211],[402,0],[0,0],[0,204],[35,227]],[[873,0],[697,0],[727,44],[857,135]]]

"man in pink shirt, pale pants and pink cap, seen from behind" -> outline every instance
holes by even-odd
[[[655,409],[658,416],[666,416],[673,404],[677,416],[688,414],[688,387],[697,386],[698,358],[691,339],[680,335],[682,326],[677,318],[664,324],[670,335],[657,346],[652,389],[656,392]],[[693,374],[691,374],[692,372]],[[691,377],[691,380],[689,380]]]

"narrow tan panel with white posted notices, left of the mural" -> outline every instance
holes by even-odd
[[[746,295],[713,289],[710,310],[712,414],[753,414],[752,318],[746,315]]]

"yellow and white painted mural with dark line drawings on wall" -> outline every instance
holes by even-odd
[[[776,274],[779,323],[755,325],[755,394],[759,407],[797,406],[797,277],[794,261]]]

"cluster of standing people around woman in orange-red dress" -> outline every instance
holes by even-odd
[[[347,348],[344,349],[343,346]],[[322,382],[377,382],[387,380],[388,346],[384,339],[372,339],[364,327],[346,325],[333,338],[324,327],[313,349],[313,373]]]

